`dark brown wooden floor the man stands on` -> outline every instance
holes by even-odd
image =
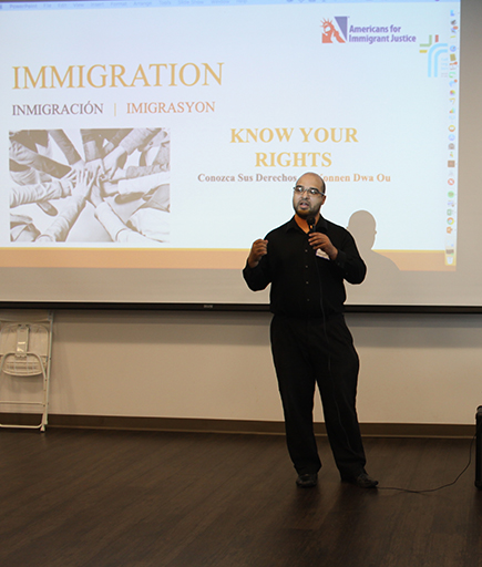
[[[425,494],[301,489],[280,436],[0,431],[1,567],[479,567],[474,464]],[[466,440],[366,440],[381,487],[437,487]]]

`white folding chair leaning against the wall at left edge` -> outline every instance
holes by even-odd
[[[0,413],[0,417],[13,414],[12,408],[28,410],[20,412],[18,417],[25,413],[38,414],[40,410],[40,423],[25,425],[7,420],[9,423],[0,423],[0,427],[45,431],[53,312],[29,316],[29,319],[16,319],[14,313],[0,315],[0,408],[2,412],[8,410]],[[39,379],[42,380],[41,386]]]

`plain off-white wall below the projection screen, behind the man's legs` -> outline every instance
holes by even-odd
[[[57,311],[50,413],[281,421],[269,320],[268,313]],[[474,422],[482,316],[347,320],[361,359],[360,422]]]

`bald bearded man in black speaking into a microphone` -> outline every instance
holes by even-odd
[[[253,244],[243,275],[253,291],[271,284],[271,351],[296,484],[316,486],[321,467],[312,424],[317,383],[341,480],[375,488],[356,410],[359,360],[343,317],[343,280],[361,284],[367,268],[351,235],[320,215],[325,192],[315,173],[298,179],[295,216]]]

